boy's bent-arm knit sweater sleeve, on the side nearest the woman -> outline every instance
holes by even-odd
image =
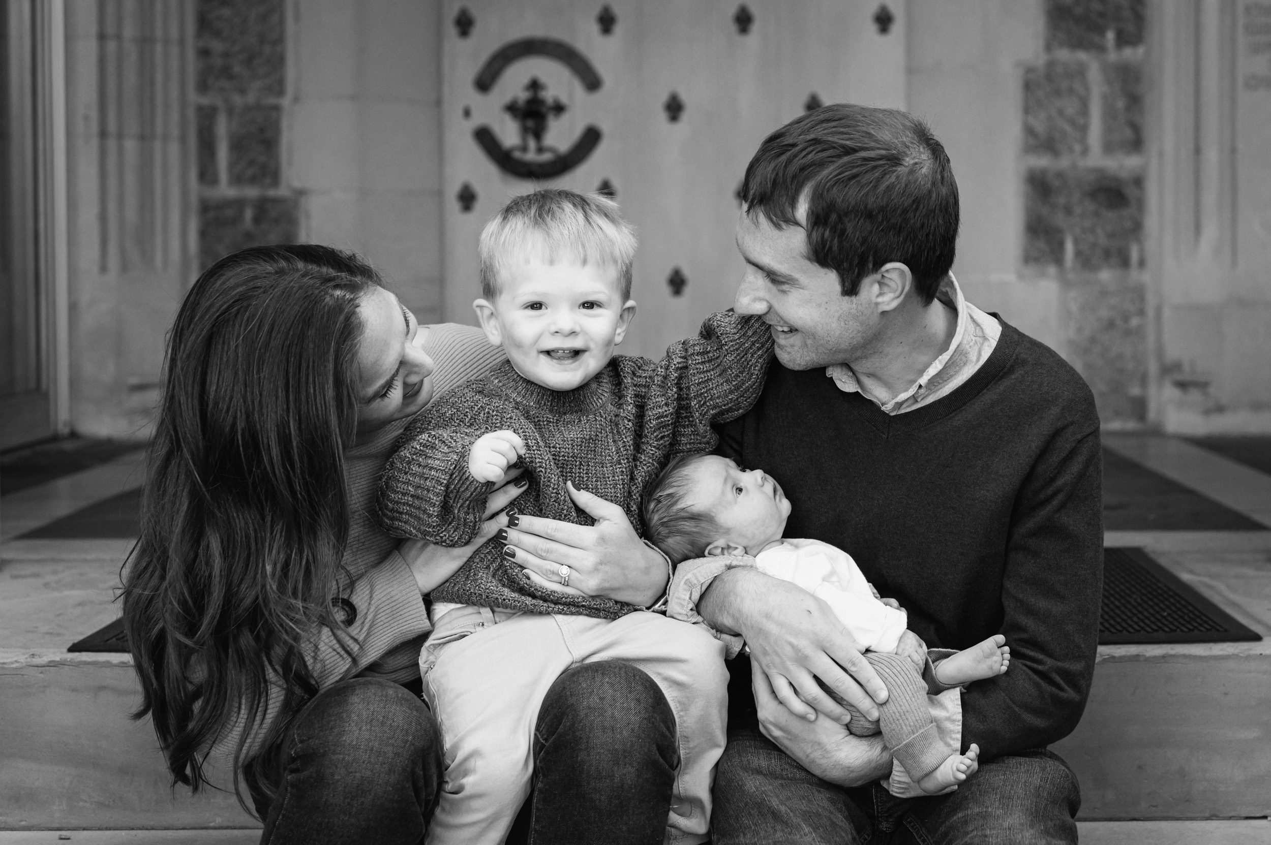
[[[468,471],[468,452],[487,432],[428,428],[427,418],[421,422],[425,424],[407,429],[384,468],[380,522],[397,537],[461,546],[480,530],[486,497],[493,487]]]

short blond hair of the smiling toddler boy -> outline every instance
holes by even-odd
[[[486,224],[477,248],[480,295],[494,301],[500,277],[517,259],[545,263],[574,259],[618,271],[622,299],[632,294],[636,230],[623,220],[618,203],[599,193],[543,188],[513,197]]]

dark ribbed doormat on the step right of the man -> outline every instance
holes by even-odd
[[[1099,644],[1262,639],[1143,549],[1103,550]]]

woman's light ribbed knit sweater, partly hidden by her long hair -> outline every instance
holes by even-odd
[[[486,341],[480,329],[452,323],[428,327],[423,351],[436,365],[435,395],[489,371],[505,357],[501,348]],[[385,426],[367,442],[344,452],[350,522],[343,564],[351,585],[344,595],[357,610],[350,632],[361,647],[350,658],[332,633],[320,629],[311,644],[310,659],[319,687],[355,673],[402,682],[419,672],[419,648],[430,630],[428,616],[414,576],[394,553],[398,540],[384,532],[374,512],[384,463],[408,422],[403,419]],[[277,715],[277,696],[271,696],[264,724],[271,724]],[[217,738],[214,754],[220,757],[233,755],[243,727],[241,719],[229,726]],[[263,731],[257,731],[258,736]],[[249,742],[248,747],[253,745]]]

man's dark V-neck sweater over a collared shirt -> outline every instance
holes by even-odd
[[[981,760],[1077,727],[1094,671],[1103,576],[1099,421],[1080,376],[1003,324],[949,395],[888,416],[824,368],[773,362],[718,451],[775,478],[788,537],[852,554],[928,647],[993,634],[1010,671],[962,694],[962,747]],[[732,661],[730,724],[754,723],[750,665]]]

